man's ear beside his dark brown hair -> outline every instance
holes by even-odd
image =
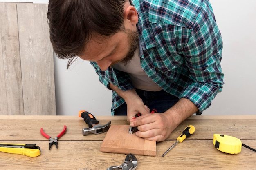
[[[124,21],[128,21],[132,25],[136,25],[138,23],[138,13],[135,7],[129,5],[124,9]]]

